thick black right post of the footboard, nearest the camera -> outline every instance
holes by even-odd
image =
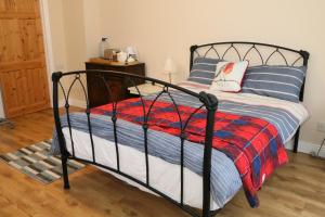
[[[206,138],[204,150],[204,167],[203,167],[203,217],[210,217],[210,196],[211,196],[211,154],[212,154],[212,139],[214,130],[214,114],[218,106],[218,100],[212,94],[200,92],[200,101],[207,108],[207,125],[206,125]]]

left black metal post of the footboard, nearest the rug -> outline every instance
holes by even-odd
[[[57,84],[62,77],[62,73],[53,73],[52,74],[52,81],[53,81],[53,113],[54,113],[54,122],[55,122],[55,129],[56,129],[56,136],[58,140],[60,145],[60,152],[61,152],[61,163],[62,163],[62,173],[63,173],[63,180],[64,180],[64,189],[69,189],[69,179],[68,179],[68,173],[67,173],[67,158],[68,158],[68,152],[66,150],[65,145],[65,139],[62,132],[61,127],[61,120],[60,120],[60,112],[58,112],[58,89]],[[68,102],[66,102],[68,103]]]

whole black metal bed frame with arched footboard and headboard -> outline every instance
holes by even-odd
[[[217,47],[221,46],[221,44],[229,44],[229,48],[223,52],[222,55],[220,55],[220,52],[218,52]],[[239,53],[239,50],[237,49],[237,46],[239,44],[246,44],[249,46],[248,50],[246,50],[246,53],[242,56]],[[268,48],[274,48],[275,50],[266,58],[266,61],[264,61],[261,52],[259,51],[258,47],[268,47]],[[219,43],[208,43],[208,44],[203,44],[203,46],[192,46],[191,47],[191,61],[190,61],[190,67],[192,68],[193,66],[193,61],[195,58],[195,54],[200,55],[199,54],[199,49],[200,48],[206,48],[207,51],[205,51],[203,56],[207,56],[207,54],[212,51],[216,52],[217,56],[219,59],[223,59],[226,53],[233,49],[237,55],[239,60],[246,60],[246,56],[249,54],[249,52],[251,52],[252,50],[255,50],[256,52],[258,52],[259,56],[261,58],[261,62],[262,64],[268,64],[269,60],[275,54],[278,53],[283,60],[285,61],[286,65],[288,65],[288,61],[285,58],[283,51],[290,51],[294,53],[298,53],[299,56],[298,59],[296,59],[292,62],[292,65],[295,65],[296,63],[299,62],[300,59],[303,60],[303,65],[307,66],[308,64],[308,58],[309,58],[309,53],[307,51],[296,51],[296,50],[291,50],[288,48],[284,48],[284,47],[278,47],[278,46],[272,46],[272,44],[266,44],[266,43],[257,43],[257,42],[219,42]],[[114,143],[115,143],[115,150],[116,150],[116,157],[117,157],[117,165],[116,168],[113,167],[107,167],[105,165],[102,165],[100,163],[96,162],[95,158],[95,149],[94,149],[94,142],[93,142],[93,133],[92,133],[92,126],[91,126],[91,118],[90,118],[90,114],[91,114],[91,107],[89,106],[89,99],[88,99],[88,94],[87,94],[87,90],[86,90],[86,86],[81,80],[81,75],[84,75],[87,73],[96,73],[98,74],[98,78],[99,81],[102,81],[105,84],[106,90],[107,90],[107,94],[112,95],[114,98],[114,92],[109,86],[108,82],[105,81],[105,77],[118,77],[120,79],[123,80],[125,86],[126,87],[130,87],[130,86],[134,86],[136,88],[136,91],[140,95],[141,102],[142,102],[142,107],[143,107],[143,123],[142,123],[142,128],[143,128],[143,132],[144,132],[144,154],[145,154],[145,166],[146,166],[146,181],[143,182],[141,180],[138,180],[136,178],[123,173],[120,170],[119,167],[119,145],[118,145],[118,135],[117,135],[117,104],[118,102],[116,100],[114,100],[114,102],[112,103],[113,106],[113,115],[112,115],[112,122],[113,122],[113,127],[114,127]],[[67,91],[63,88],[63,85],[61,82],[61,79],[64,77],[73,77],[73,81],[70,84],[70,86],[68,87]],[[135,85],[134,80],[139,80],[142,79],[144,81],[147,82],[153,82],[153,84],[158,84],[160,86],[162,86],[162,90],[161,92],[157,93],[155,100],[152,102],[152,104],[150,105],[150,107],[146,107],[142,98],[142,94],[138,88],[138,86]],[[55,120],[55,128],[56,128],[56,133],[57,133],[57,139],[58,139],[58,144],[60,144],[60,151],[61,151],[61,158],[62,158],[62,168],[63,168],[63,179],[64,179],[64,189],[69,189],[69,180],[68,180],[68,174],[67,174],[67,159],[68,158],[75,158],[84,163],[89,163],[105,169],[108,169],[110,171],[114,171],[118,175],[121,175],[134,182],[136,182],[138,184],[141,184],[145,188],[147,188],[148,190],[153,191],[154,193],[167,199],[168,201],[172,202],[173,204],[176,204],[177,206],[181,207],[183,210],[185,210],[187,214],[190,214],[191,216],[204,216],[204,217],[210,217],[210,216],[214,216],[219,209],[217,210],[211,210],[210,209],[210,171],[211,171],[211,153],[212,153],[212,137],[213,137],[213,126],[214,126],[214,114],[218,107],[218,99],[212,95],[212,94],[208,94],[205,92],[200,92],[200,93],[196,93],[193,92],[191,90],[184,89],[182,87],[169,84],[169,82],[165,82],[155,78],[150,78],[150,77],[142,77],[142,76],[138,76],[138,75],[132,75],[132,74],[128,74],[128,73],[121,73],[121,72],[112,72],[112,71],[78,71],[78,72],[70,72],[70,73],[53,73],[52,74],[52,81],[53,81],[53,113],[54,113],[54,120]],[[91,141],[91,148],[92,148],[92,161],[89,159],[84,159],[84,158],[79,158],[75,155],[75,149],[74,149],[74,139],[73,139],[73,133],[72,133],[72,125],[70,125],[70,118],[69,118],[69,108],[70,108],[70,104],[69,104],[69,97],[70,97],[70,92],[74,88],[74,86],[76,84],[79,84],[81,86],[82,92],[84,94],[86,98],[86,102],[87,102],[87,107],[86,107],[86,114],[87,114],[87,118],[88,118],[88,129],[89,129],[89,136],[90,136],[90,141]],[[304,81],[303,81],[304,84]],[[58,90],[62,90],[63,92],[63,98],[65,101],[65,113],[67,116],[67,123],[68,123],[68,129],[69,129],[69,136],[70,136],[70,144],[72,144],[72,153],[69,153],[67,151],[66,148],[66,140],[62,130],[62,124],[61,124],[61,117],[60,117],[60,105],[58,105],[58,101],[60,101],[60,97],[58,97]],[[172,98],[172,95],[170,94],[170,89],[176,89],[179,91],[182,91],[183,93],[186,93],[188,95],[192,95],[194,98],[197,98],[200,102],[202,105],[198,106],[188,117],[187,119],[182,119],[178,104],[176,103],[174,99]],[[181,183],[180,183],[180,202],[169,197],[168,195],[166,195],[164,192],[160,192],[158,190],[156,190],[155,188],[153,188],[150,183],[150,162],[148,162],[148,149],[147,149],[147,130],[150,128],[148,126],[148,119],[150,119],[150,113],[151,113],[151,108],[153,107],[153,105],[155,104],[155,102],[158,100],[158,98],[162,94],[166,93],[167,95],[169,95],[173,106],[174,106],[174,112],[178,114],[179,120],[180,120],[180,131],[181,133],[179,135],[180,138],[180,145],[181,145],[181,151],[180,151],[180,174],[181,174]],[[106,95],[107,95],[106,94]],[[103,97],[106,97],[105,94],[103,94]],[[303,87],[301,89],[301,93],[300,93],[300,100],[302,101],[303,99]],[[193,117],[193,115],[195,113],[197,113],[199,110],[205,108],[206,110],[206,119],[207,119],[207,124],[206,124],[206,135],[205,135],[205,143],[204,143],[204,159],[203,159],[203,206],[202,206],[202,215],[198,214],[198,212],[192,207],[188,207],[187,205],[184,204],[184,163],[183,163],[183,155],[184,155],[184,141],[186,140],[186,126],[188,124],[188,122],[191,120],[191,118]],[[296,136],[295,136],[295,152],[297,151],[298,148],[298,139],[299,139],[299,130],[297,131]]]

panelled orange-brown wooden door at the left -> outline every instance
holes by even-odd
[[[6,117],[50,106],[38,0],[0,0],[0,88]]]

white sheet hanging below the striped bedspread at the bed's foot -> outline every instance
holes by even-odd
[[[70,137],[68,128],[63,129],[66,138],[67,150],[72,152]],[[73,138],[75,143],[75,155],[80,158],[92,161],[92,150],[89,133],[73,129]],[[95,144],[95,161],[107,167],[117,168],[115,143],[108,140],[93,136]],[[145,155],[133,148],[119,145],[120,170],[145,182]],[[165,193],[171,199],[180,202],[181,174],[180,165],[171,164],[159,157],[148,155],[150,161],[150,184],[158,191]],[[99,167],[100,168],[100,167]],[[141,184],[129,180],[110,170],[100,168],[112,174],[120,180],[134,186],[142,191],[154,192],[147,190]],[[155,194],[156,195],[156,194]],[[232,197],[227,199],[227,202]],[[203,178],[184,167],[184,203],[196,208],[202,208],[203,203]],[[211,196],[211,209],[219,209]]]

